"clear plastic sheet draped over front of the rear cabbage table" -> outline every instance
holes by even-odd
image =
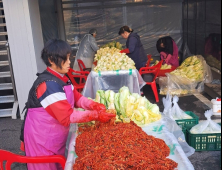
[[[95,99],[98,90],[112,90],[118,93],[123,86],[128,87],[131,93],[140,94],[140,89],[144,85],[146,83],[138,70],[104,71],[100,73],[91,71],[87,77],[82,95]]]

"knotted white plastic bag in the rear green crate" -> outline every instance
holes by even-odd
[[[174,96],[173,98],[173,104],[171,117],[173,117],[174,120],[182,120],[182,119],[192,119],[191,116],[187,115],[178,105],[179,97]]]

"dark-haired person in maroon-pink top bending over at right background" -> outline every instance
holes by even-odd
[[[160,38],[157,41],[156,48],[160,53],[163,64],[172,65],[174,67],[179,66],[178,47],[170,36]]]

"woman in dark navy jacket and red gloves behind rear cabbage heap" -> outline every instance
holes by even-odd
[[[127,48],[122,50],[121,53],[126,53],[135,62],[137,70],[145,67],[148,58],[141,43],[140,36],[134,33],[128,26],[121,27],[119,35],[127,39]]]

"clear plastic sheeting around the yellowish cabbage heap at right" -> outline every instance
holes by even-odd
[[[211,83],[213,81],[213,76],[210,67],[207,65],[206,61],[202,56],[193,56],[201,63],[202,69],[199,70],[197,66],[193,65],[190,67],[181,67],[179,70],[183,70],[186,74],[189,75],[199,75],[199,78],[190,79],[185,74],[181,74],[180,72],[172,72],[167,73],[167,77],[160,77],[160,94],[166,95],[170,93],[171,95],[189,95],[194,93],[200,93],[204,91],[204,83]],[[187,59],[189,60],[189,58]],[[178,69],[177,69],[178,70]],[[176,70],[176,71],[177,71]],[[194,71],[196,70],[196,71]],[[195,74],[199,73],[201,74]],[[203,72],[203,73],[202,73]],[[203,75],[203,76],[202,76]]]

